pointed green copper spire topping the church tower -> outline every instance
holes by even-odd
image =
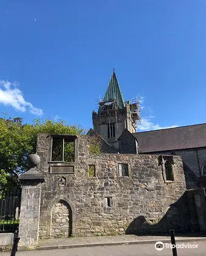
[[[118,80],[116,79],[115,71],[113,71],[112,77],[107,87],[107,91],[104,95],[104,102],[112,102],[115,100],[118,108],[125,107],[123,94],[121,93]]]

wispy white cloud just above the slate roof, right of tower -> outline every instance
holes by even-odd
[[[137,129],[140,131],[145,131],[145,130],[160,130],[160,129],[178,127],[177,124],[174,124],[172,126],[160,126],[160,124],[155,124],[151,121],[151,119],[154,117],[155,116],[144,116],[143,118],[141,118],[141,124],[140,126],[137,127]]]

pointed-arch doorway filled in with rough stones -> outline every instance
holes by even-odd
[[[72,210],[63,200],[55,203],[51,214],[51,237],[68,237],[72,233]]]

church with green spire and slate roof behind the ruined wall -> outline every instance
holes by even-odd
[[[206,165],[206,124],[137,132],[139,102],[124,100],[115,71],[92,119],[93,131],[119,153],[180,155],[186,187],[199,187]]]

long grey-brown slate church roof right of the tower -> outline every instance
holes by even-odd
[[[206,147],[206,123],[132,134],[143,153]]]

